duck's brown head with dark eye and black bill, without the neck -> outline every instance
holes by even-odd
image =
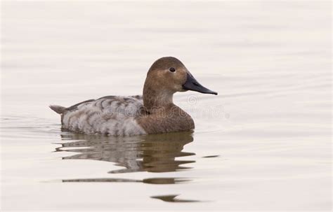
[[[188,90],[217,94],[198,83],[184,64],[175,57],[162,57],[152,64],[145,80],[145,89],[171,94]]]

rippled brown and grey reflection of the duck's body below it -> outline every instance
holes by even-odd
[[[195,155],[186,153],[183,148],[193,141],[192,132],[154,134],[133,137],[89,136],[63,132],[61,147],[56,152],[78,153],[63,157],[63,160],[102,160],[115,162],[117,169],[108,173],[128,173],[134,171],[166,172],[190,169],[183,164],[194,160],[177,160],[177,157]],[[152,184],[173,184],[188,181],[183,178],[147,178],[143,181],[121,178],[71,179],[63,182],[140,182]]]

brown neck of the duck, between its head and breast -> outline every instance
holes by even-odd
[[[150,86],[143,87],[143,106],[148,113],[165,110],[170,106],[173,106],[173,99],[174,92],[154,90]]]

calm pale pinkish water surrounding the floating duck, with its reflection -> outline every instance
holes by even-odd
[[[330,2],[2,3],[1,209],[332,209]],[[194,132],[62,132],[48,104],[141,94],[174,56]]]

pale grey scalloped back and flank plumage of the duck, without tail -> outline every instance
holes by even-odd
[[[142,108],[143,99],[139,95],[89,99],[65,108],[61,122],[64,129],[87,134],[145,134],[136,122]]]

